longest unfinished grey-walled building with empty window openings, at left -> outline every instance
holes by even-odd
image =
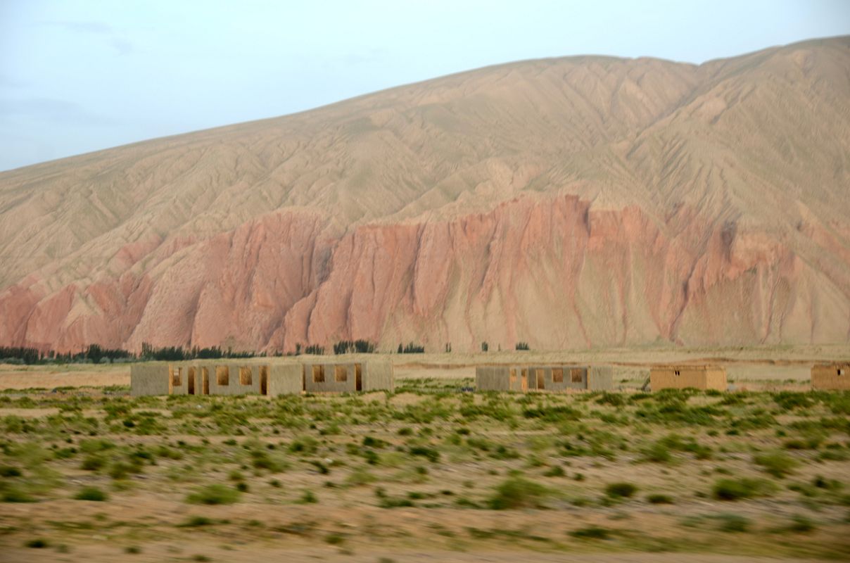
[[[325,377],[325,373],[328,377]],[[130,394],[140,395],[299,395],[393,390],[388,361],[348,363],[180,362],[134,365]]]

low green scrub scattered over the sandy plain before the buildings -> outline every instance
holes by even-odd
[[[0,393],[0,407],[58,412],[0,416],[0,498],[97,501],[71,503],[79,518],[50,526],[59,532],[109,526],[119,545],[130,546],[139,542],[133,529],[95,516],[109,514],[105,508],[116,500],[151,493],[165,505],[238,502],[246,514],[265,504],[283,508],[269,519],[239,511],[229,521],[218,509],[192,515],[197,510],[184,505],[189,512],[173,521],[175,533],[296,534],[340,550],[353,549],[347,530],[309,518],[286,521],[286,506],[298,505],[305,515],[377,507],[380,525],[412,543],[460,536],[448,529],[405,531],[392,516],[398,510],[425,516],[439,509],[472,521],[474,511],[488,509],[497,511],[488,518],[504,526],[467,526],[466,541],[697,549],[673,538],[682,522],[735,545],[760,535],[747,532],[763,531],[794,534],[796,543],[834,559],[844,554],[814,540],[842,526],[850,506],[842,477],[850,451],[842,394],[458,392],[468,386],[468,379],[415,378],[400,380],[393,393],[268,401],[137,398],[126,389]],[[767,497],[797,516],[762,519]],[[740,514],[724,512],[729,507]],[[541,509],[569,509],[581,518],[604,509],[609,518],[604,525],[591,519],[546,531],[523,528]],[[671,526],[664,540],[670,543],[643,529],[635,510]],[[812,510],[824,515],[814,520]],[[22,529],[7,530],[0,543],[3,537],[18,546],[27,540]]]

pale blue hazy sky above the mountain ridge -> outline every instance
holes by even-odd
[[[848,34],[850,0],[0,0],[0,170],[513,60]]]

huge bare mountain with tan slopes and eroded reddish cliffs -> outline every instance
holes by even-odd
[[[0,173],[0,344],[850,341],[850,37],[570,57]]]

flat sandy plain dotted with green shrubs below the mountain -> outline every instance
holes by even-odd
[[[394,392],[274,399],[3,365],[2,560],[850,558],[850,394],[808,382],[850,347],[389,357]],[[526,361],[612,364],[615,391],[469,390]],[[642,390],[670,362],[731,390]]]

